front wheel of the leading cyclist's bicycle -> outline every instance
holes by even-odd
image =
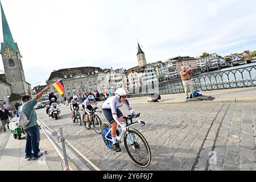
[[[146,139],[138,130],[129,129],[123,137],[126,151],[139,167],[147,167],[151,162],[151,151]]]

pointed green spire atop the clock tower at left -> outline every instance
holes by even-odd
[[[11,35],[11,31],[5,16],[5,12],[3,11],[2,3],[1,5],[1,14],[2,14],[2,27],[3,27],[3,43],[1,43],[1,52],[8,44],[14,51],[18,52],[18,45],[13,40],[13,35]]]

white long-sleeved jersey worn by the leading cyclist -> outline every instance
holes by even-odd
[[[123,104],[127,106],[127,109],[131,110],[131,105],[129,104],[129,101],[126,99],[125,102],[119,102],[118,96],[112,96],[109,97],[104,104],[102,105],[102,109],[111,109],[112,114],[117,113],[117,108],[122,107]]]

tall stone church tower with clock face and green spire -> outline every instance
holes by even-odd
[[[24,71],[22,67],[21,56],[18,44],[14,42],[13,36],[5,12],[3,11],[2,3],[2,28],[3,28],[3,43],[1,43],[1,55],[3,60],[3,67],[5,69],[6,82],[11,84],[11,92],[20,96],[30,94],[28,83],[26,82]]]

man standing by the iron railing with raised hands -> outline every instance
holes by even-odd
[[[192,91],[193,88],[189,81],[190,80],[189,74],[192,74],[192,73],[193,73],[193,69],[191,68],[191,65],[189,65],[188,71],[186,71],[186,68],[184,66],[181,67],[180,77],[182,80],[182,84],[184,86],[186,100],[189,98],[188,96],[189,85],[190,85],[191,93],[193,94],[193,91]]]

